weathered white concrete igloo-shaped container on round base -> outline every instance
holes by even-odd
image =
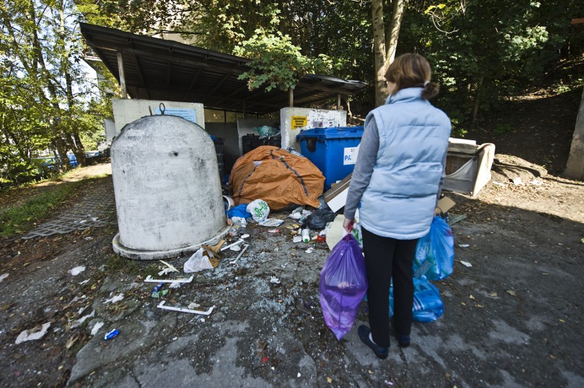
[[[215,144],[199,125],[140,118],[123,127],[110,156],[119,255],[176,257],[227,233]]]

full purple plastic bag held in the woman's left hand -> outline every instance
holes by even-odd
[[[367,293],[365,259],[352,235],[332,248],[320,272],[319,290],[324,322],[340,341],[351,330]]]

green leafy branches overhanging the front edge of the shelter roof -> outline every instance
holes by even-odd
[[[293,89],[304,75],[330,73],[333,68],[332,60],[326,55],[308,58],[292,44],[289,36],[280,32],[267,34],[263,29],[257,29],[256,34],[236,47],[234,53],[252,59],[251,70],[239,76],[239,79],[248,79],[250,90],[263,85],[268,92],[273,88]]]

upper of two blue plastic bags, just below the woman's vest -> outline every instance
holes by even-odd
[[[445,220],[436,216],[427,235],[417,241],[413,270],[415,277],[444,279],[452,274],[454,235]]]

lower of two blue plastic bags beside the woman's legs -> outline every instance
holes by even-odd
[[[444,313],[444,304],[438,288],[426,279],[413,279],[413,320],[434,322]],[[389,316],[393,317],[393,286],[389,289]]]

